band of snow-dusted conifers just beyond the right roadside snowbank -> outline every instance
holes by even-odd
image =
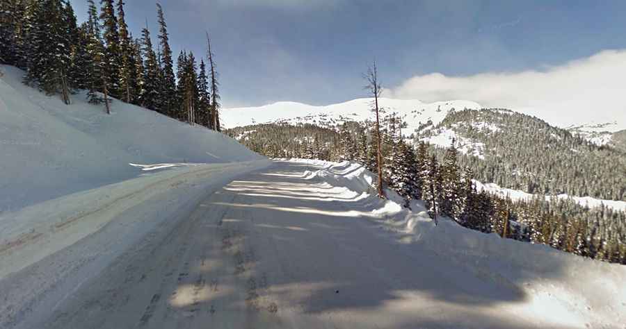
[[[511,201],[478,191],[470,167],[460,166],[453,143],[442,151],[400,138],[401,123],[391,118],[381,128],[383,180],[406,199],[422,199],[435,220],[444,215],[461,226],[524,242],[547,244],[577,255],[626,264],[626,214],[588,208],[572,199],[538,196]],[[376,134],[347,122],[338,130],[312,124],[260,124],[227,132],[250,149],[272,158],[352,160],[376,173]]]

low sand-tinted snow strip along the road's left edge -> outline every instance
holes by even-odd
[[[270,163],[255,160],[185,167],[0,214],[0,279],[105,228],[118,228],[116,238],[130,235],[131,229],[141,236],[166,219],[184,217],[186,208],[232,178]],[[122,250],[122,246],[115,248]]]

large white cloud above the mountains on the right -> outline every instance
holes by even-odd
[[[626,129],[626,51],[602,51],[543,71],[474,76],[415,76],[387,96],[422,101],[467,99],[568,126],[617,121]]]

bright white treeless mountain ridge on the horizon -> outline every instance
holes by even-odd
[[[302,103],[278,102],[258,108],[229,108],[222,111],[223,124],[228,128],[284,122],[288,124],[316,124],[326,127],[342,124],[344,121],[372,121],[376,117],[371,112],[373,99],[355,99],[329,106],[309,106]],[[403,135],[411,135],[421,125],[436,126],[452,109],[479,109],[473,101],[440,101],[422,103],[412,99],[378,99],[385,115],[395,113],[406,121]]]

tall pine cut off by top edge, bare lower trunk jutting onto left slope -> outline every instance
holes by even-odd
[[[121,47],[118,19],[115,17],[113,0],[101,0],[100,3],[102,5],[100,8],[100,19],[104,27],[102,34],[104,40],[104,60],[102,61],[104,63],[102,66],[103,91],[106,90],[111,96],[122,99],[123,93],[120,90],[119,83],[122,60],[120,59]]]

